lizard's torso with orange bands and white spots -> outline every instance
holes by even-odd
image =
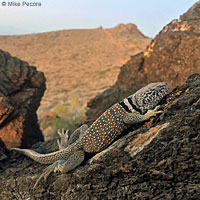
[[[84,150],[95,153],[105,149],[127,127],[123,122],[126,112],[115,104],[105,111],[85,132],[81,138]]]

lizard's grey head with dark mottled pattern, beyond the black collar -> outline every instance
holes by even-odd
[[[169,84],[166,82],[150,83],[133,95],[135,105],[145,113],[152,110],[169,92]]]

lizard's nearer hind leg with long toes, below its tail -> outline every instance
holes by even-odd
[[[48,176],[52,172],[60,171],[61,173],[67,173],[68,171],[71,171],[77,166],[79,166],[83,162],[84,158],[85,158],[84,151],[79,150],[71,154],[67,160],[57,160],[44,170],[44,172],[36,181],[33,189],[36,188],[36,186],[38,185],[38,183],[42,178],[44,178],[44,181],[46,181]]]

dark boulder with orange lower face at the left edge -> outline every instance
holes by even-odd
[[[0,138],[8,148],[43,139],[36,110],[44,91],[42,72],[0,50]]]

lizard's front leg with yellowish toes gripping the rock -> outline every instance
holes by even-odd
[[[153,110],[148,110],[144,115],[140,114],[137,111],[133,113],[126,113],[123,117],[123,121],[125,124],[137,124],[146,121],[159,113],[163,113],[163,111],[158,111],[159,108],[160,106],[156,106]]]

